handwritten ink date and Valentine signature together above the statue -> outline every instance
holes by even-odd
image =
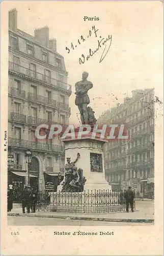
[[[84,64],[86,61],[88,61],[95,53],[97,53],[100,49],[102,49],[102,54],[99,60],[99,63],[105,58],[106,54],[110,50],[111,44],[112,44],[112,35],[108,35],[106,38],[97,35],[98,29],[95,28],[95,26],[92,26],[92,30],[89,30],[87,38],[90,38],[92,35],[97,37],[97,47],[96,49],[89,48],[87,54],[81,54],[81,56],[78,59],[78,63]],[[86,39],[84,38],[83,35],[80,36],[80,39],[77,40],[77,45],[80,45],[81,43],[85,42]],[[71,42],[71,47],[70,49],[66,47],[66,50],[68,53],[70,53],[71,50],[74,50],[77,45],[73,45]]]

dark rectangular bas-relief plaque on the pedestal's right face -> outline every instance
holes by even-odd
[[[102,173],[102,154],[90,153],[91,172]]]

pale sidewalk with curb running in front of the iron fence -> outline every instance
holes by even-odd
[[[36,211],[35,213],[22,214],[22,209],[13,205],[8,216],[23,216],[23,217],[40,217],[40,218],[60,218],[71,220],[92,220],[92,221],[108,221],[108,222],[145,222],[153,223],[154,215],[152,210],[134,212],[112,212],[110,214],[76,214],[72,212],[50,212],[50,211]]]

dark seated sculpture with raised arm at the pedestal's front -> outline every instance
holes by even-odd
[[[84,184],[86,182],[85,177],[83,177],[83,170],[78,169],[75,166],[80,154],[77,153],[77,158],[74,162],[71,162],[71,158],[67,157],[67,164],[65,166],[64,181],[61,183],[63,185],[62,192],[81,192],[84,190]]]

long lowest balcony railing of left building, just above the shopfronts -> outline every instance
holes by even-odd
[[[21,140],[21,139],[15,139],[15,138],[8,139],[8,146],[31,148],[33,150],[40,150],[40,151],[52,151],[52,152],[62,152],[62,153],[64,152],[64,147],[60,145],[44,143],[44,142],[36,142],[36,141],[30,141],[30,140]]]

